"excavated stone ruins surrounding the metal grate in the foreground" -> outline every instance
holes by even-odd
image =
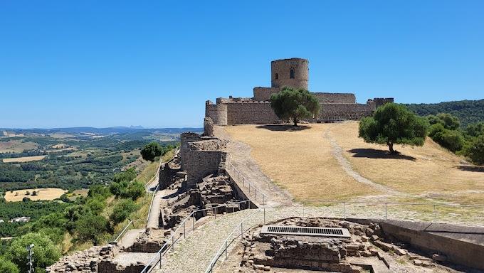
[[[216,272],[456,272],[409,245],[385,235],[378,224],[362,225],[328,218],[288,218],[270,225],[344,228],[350,237],[271,234],[264,227],[243,235]],[[465,271],[468,272],[468,271]]]

